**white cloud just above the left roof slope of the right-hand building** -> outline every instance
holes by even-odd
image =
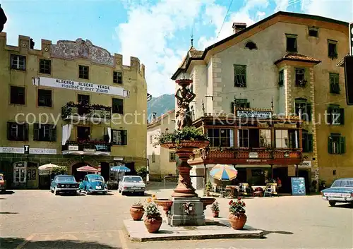
[[[228,13],[224,25],[222,26],[225,18],[226,7],[218,4],[208,4],[205,8],[205,18],[210,19],[211,23],[215,25],[215,36],[213,37],[201,37],[198,40],[198,47],[205,49],[206,47],[218,42],[220,40],[229,37],[233,34],[232,25],[233,23],[246,23],[247,26],[253,25],[259,18],[262,18],[265,13],[259,11],[261,8],[268,7],[268,0],[248,0],[245,2],[239,11]],[[251,11],[257,11],[255,16],[251,16]],[[221,29],[222,28],[222,29]]]

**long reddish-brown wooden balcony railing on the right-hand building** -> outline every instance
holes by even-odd
[[[211,147],[196,153],[191,164],[300,164],[301,149],[225,148]]]

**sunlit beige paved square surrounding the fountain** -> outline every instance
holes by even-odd
[[[150,188],[153,188],[153,186]],[[162,185],[150,190],[165,198]],[[0,248],[353,248],[353,208],[329,207],[314,196],[245,198],[246,225],[265,238],[192,241],[130,241],[123,221],[145,197],[109,195],[55,196],[49,190],[14,190],[0,195]],[[220,217],[227,217],[227,199]],[[206,217],[211,217],[208,209]]]

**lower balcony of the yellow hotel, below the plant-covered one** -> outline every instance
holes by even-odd
[[[68,141],[66,145],[62,145],[62,154],[83,154],[109,156],[111,144],[104,141],[85,140],[85,141]]]

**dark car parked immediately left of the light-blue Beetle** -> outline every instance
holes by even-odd
[[[76,194],[78,190],[78,183],[74,176],[69,175],[57,175],[54,176],[52,183],[50,184],[50,190],[55,195],[59,193],[71,193]]]

